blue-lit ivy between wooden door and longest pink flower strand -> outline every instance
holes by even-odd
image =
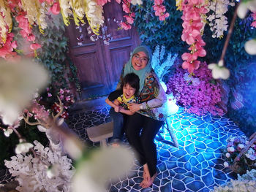
[[[185,43],[181,41],[181,15],[176,11],[176,1],[164,1],[165,8],[170,14],[165,21],[154,15],[154,1],[143,1],[142,6],[132,7],[135,11],[135,27],[140,34],[143,44],[154,49],[156,45],[164,45],[171,53],[184,53]]]

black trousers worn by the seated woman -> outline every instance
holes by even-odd
[[[157,147],[154,144],[154,137],[164,121],[148,118],[138,112],[127,116],[124,130],[128,142],[137,152],[140,164],[148,164],[152,177],[157,172]]]

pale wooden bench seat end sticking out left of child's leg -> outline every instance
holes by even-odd
[[[99,142],[100,146],[107,146],[107,139],[113,137],[113,121],[86,129],[92,142]]]

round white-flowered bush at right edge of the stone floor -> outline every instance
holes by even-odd
[[[229,137],[227,139],[227,147],[223,150],[223,156],[228,166],[233,168],[233,171],[239,174],[244,174],[246,170],[255,169],[256,163],[256,145],[251,147],[235,161],[236,156],[241,153],[241,150],[249,144],[249,139],[246,136]]]

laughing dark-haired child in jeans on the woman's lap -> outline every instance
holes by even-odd
[[[110,118],[113,119],[114,124],[113,137],[111,140],[113,145],[118,145],[122,140],[125,116],[134,114],[134,112],[129,110],[129,104],[140,103],[141,101],[140,96],[137,96],[140,89],[140,79],[138,75],[134,73],[127,74],[124,77],[121,89],[123,90],[122,92],[118,90],[113,91],[106,99],[106,103],[113,107],[110,109]]]

